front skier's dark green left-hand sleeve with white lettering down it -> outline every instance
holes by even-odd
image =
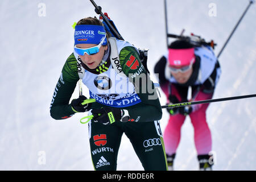
[[[73,53],[65,62],[59,80],[53,92],[50,113],[53,119],[66,119],[75,114],[69,100],[79,80],[77,60]]]

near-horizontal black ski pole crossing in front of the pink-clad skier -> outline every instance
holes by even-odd
[[[162,109],[173,108],[173,107],[182,107],[182,106],[189,106],[189,105],[196,105],[196,104],[205,104],[205,103],[210,103],[210,102],[237,100],[237,99],[241,99],[241,98],[250,98],[250,97],[256,97],[256,94],[250,94],[250,95],[245,95],[245,96],[216,98],[216,99],[211,99],[211,100],[202,100],[202,101],[193,101],[193,102],[183,102],[183,103],[177,103],[177,104],[163,105],[161,107],[162,107]]]

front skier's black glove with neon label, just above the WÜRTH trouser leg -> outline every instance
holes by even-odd
[[[115,121],[127,122],[130,119],[127,110],[114,107],[102,107],[101,109],[93,109],[93,121],[104,125],[110,125]]]

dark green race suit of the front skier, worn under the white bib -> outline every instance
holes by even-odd
[[[144,169],[167,170],[162,131],[159,125],[162,109],[158,97],[155,97],[154,84],[143,68],[136,48],[126,46],[118,53],[120,68],[134,85],[135,92],[141,102],[131,106],[122,105],[122,109],[128,110],[130,121],[133,122],[114,122],[109,126],[95,122],[89,123],[90,149],[94,169],[116,169],[118,149],[122,134],[125,133],[133,144]],[[72,53],[64,64],[53,93],[50,113],[54,119],[66,119],[75,114],[69,101],[80,78],[77,64],[79,62]],[[146,75],[146,81],[139,77],[142,74]],[[82,80],[86,82],[84,80],[86,78]],[[143,84],[146,86],[142,87]],[[92,104],[92,109],[101,107],[109,107],[109,105],[99,102]]]

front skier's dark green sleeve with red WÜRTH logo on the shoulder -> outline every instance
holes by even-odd
[[[129,81],[133,83],[141,103],[128,107],[132,119],[141,122],[156,121],[162,118],[162,108],[158,94],[150,76],[143,67],[139,54],[134,47],[124,47],[119,53],[122,70]]]

